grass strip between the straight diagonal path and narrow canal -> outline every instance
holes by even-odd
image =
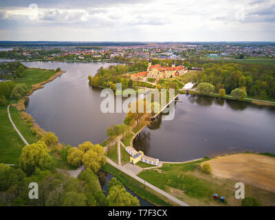
[[[101,169],[114,175],[122,182],[122,184],[124,184],[124,186],[133,190],[133,192],[135,192],[139,197],[153,203],[155,206],[177,206],[176,203],[173,203],[173,201],[170,201],[158,192],[151,190],[151,188],[144,188],[144,184],[140,183],[140,181],[126,175],[122,171],[111,166],[111,164],[105,164]]]

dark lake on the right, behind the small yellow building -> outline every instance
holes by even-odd
[[[275,153],[275,109],[208,96],[179,96],[175,118],[162,117],[134,140],[162,161],[181,162],[240,151]]]

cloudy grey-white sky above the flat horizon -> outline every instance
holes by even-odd
[[[1,41],[275,41],[275,0],[0,0]]]

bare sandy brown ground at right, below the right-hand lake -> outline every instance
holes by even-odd
[[[226,155],[208,161],[212,175],[242,181],[275,192],[275,158],[253,153]]]

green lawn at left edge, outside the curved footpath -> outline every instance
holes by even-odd
[[[24,142],[8,118],[7,107],[0,107],[0,163],[19,164]]]

